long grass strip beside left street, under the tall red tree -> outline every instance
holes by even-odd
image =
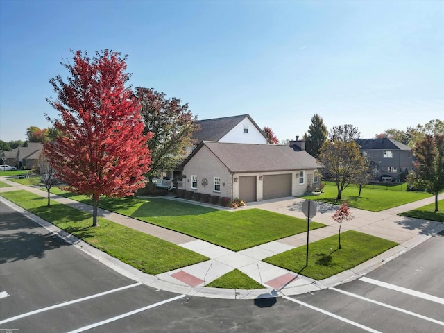
[[[100,227],[92,227],[91,214],[54,200],[48,207],[46,198],[28,191],[11,191],[1,196],[144,273],[156,275],[208,260],[191,250],[106,219],[99,218]]]

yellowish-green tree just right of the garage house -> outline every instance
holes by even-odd
[[[327,178],[336,184],[341,200],[342,191],[350,184],[355,184],[357,178],[368,170],[365,157],[361,156],[355,141],[327,141],[321,147],[318,161],[323,165]]]

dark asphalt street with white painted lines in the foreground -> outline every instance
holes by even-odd
[[[219,300],[125,278],[0,203],[0,332],[444,332],[443,234],[365,277]]]

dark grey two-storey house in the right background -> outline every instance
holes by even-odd
[[[387,137],[357,139],[359,151],[367,157],[375,178],[399,182],[401,174],[413,169],[413,151],[409,146]]]

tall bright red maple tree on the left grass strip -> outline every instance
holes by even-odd
[[[71,75],[67,83],[61,76],[50,80],[57,99],[48,101],[60,119],[46,118],[60,135],[44,145],[44,154],[67,190],[92,198],[96,226],[99,198],[144,187],[151,156],[139,103],[125,87],[126,57],[105,50],[90,59],[76,51],[73,59],[61,62]]]

